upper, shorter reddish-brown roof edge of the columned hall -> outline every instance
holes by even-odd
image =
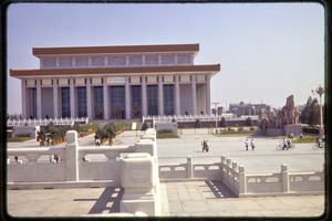
[[[38,57],[52,55],[92,55],[126,53],[172,53],[191,52],[194,56],[199,44],[156,44],[156,45],[118,45],[118,46],[71,46],[71,48],[33,48],[32,54]]]

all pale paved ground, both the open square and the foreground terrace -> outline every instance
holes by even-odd
[[[129,135],[131,134],[131,135]],[[180,138],[157,139],[159,165],[186,162],[217,162],[220,156],[231,158],[246,167],[246,173],[280,172],[281,164],[289,171],[321,171],[324,151],[313,150],[313,144],[295,144],[295,149],[278,151],[280,139],[248,137],[255,150],[246,150],[247,137],[217,137],[215,135],[181,135]],[[114,145],[134,145],[135,133],[120,135]],[[201,151],[203,139],[208,139],[210,151]],[[79,139],[80,146],[94,145],[93,135]],[[35,140],[10,143],[9,148],[35,147]],[[106,160],[91,155],[91,160]],[[42,159],[48,160],[48,158]],[[162,182],[162,215],[166,217],[319,217],[325,211],[324,196],[235,198],[218,181]],[[120,211],[121,188],[9,190],[8,211],[13,217],[93,217]]]

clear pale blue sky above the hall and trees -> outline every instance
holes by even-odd
[[[320,3],[13,3],[8,8],[8,113],[21,113],[20,80],[39,69],[32,48],[199,43],[195,64],[218,64],[211,102],[295,105],[324,84]],[[318,97],[319,98],[319,97]]]

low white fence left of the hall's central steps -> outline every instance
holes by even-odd
[[[74,123],[87,124],[87,117],[76,117],[76,118],[40,118],[40,119],[8,119],[7,126],[46,126],[50,123],[55,126],[60,125],[73,125]]]

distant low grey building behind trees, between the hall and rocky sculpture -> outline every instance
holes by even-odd
[[[273,112],[273,106],[267,104],[245,104],[243,102],[229,104],[229,112],[238,116],[259,115],[260,110],[262,113]]]

